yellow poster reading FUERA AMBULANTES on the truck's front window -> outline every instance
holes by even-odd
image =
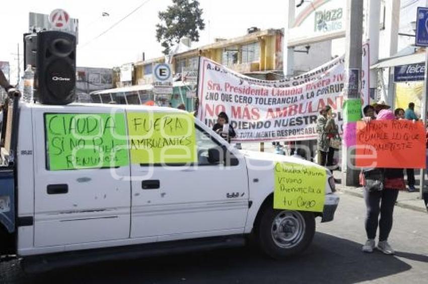
[[[195,163],[194,117],[189,113],[127,113],[131,163]]]

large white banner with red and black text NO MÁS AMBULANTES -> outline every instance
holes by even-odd
[[[336,57],[292,79],[263,81],[200,57],[198,118],[212,127],[226,112],[235,142],[308,140],[316,139],[319,111],[329,105],[342,133],[343,63]]]

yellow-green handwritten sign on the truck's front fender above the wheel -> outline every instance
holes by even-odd
[[[276,163],[273,208],[322,212],[327,174],[324,168]]]

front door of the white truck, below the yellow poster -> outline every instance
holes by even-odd
[[[210,161],[209,149],[221,143],[203,126],[196,125],[195,131],[197,161],[192,166],[131,164],[132,238],[168,241],[244,232],[249,198],[245,160],[230,167]]]

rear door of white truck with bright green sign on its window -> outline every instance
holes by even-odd
[[[37,247],[129,238],[123,110],[77,109],[33,108]]]

